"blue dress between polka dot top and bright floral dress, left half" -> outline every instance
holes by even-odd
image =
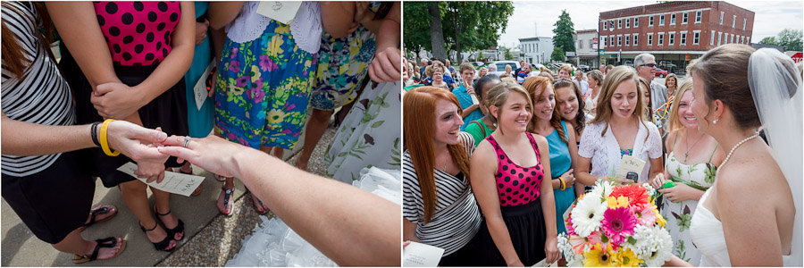
[[[203,16],[209,3],[196,2],[196,18]],[[207,34],[207,36],[209,36]],[[187,86],[187,125],[189,136],[192,138],[204,138],[213,128],[214,98],[207,97],[201,110],[197,109],[195,91],[196,82],[204,75],[206,66],[212,61],[212,51],[209,45],[209,38],[204,38],[204,43],[196,45],[196,52],[193,54],[193,63],[190,69],[184,74]]]

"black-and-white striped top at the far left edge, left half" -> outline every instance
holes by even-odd
[[[17,38],[30,66],[24,71],[24,79],[18,78],[7,69],[3,61],[2,102],[3,113],[15,121],[26,121],[42,125],[72,125],[75,113],[72,96],[67,82],[51,61],[38,41],[38,29],[34,21],[41,21],[32,4],[8,2],[11,8],[3,8],[3,21]],[[26,17],[29,16],[29,17]],[[25,177],[41,172],[53,164],[62,154],[17,156],[3,155],[4,175]]]

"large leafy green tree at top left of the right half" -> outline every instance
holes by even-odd
[[[439,15],[431,15],[438,6]],[[439,47],[454,50],[461,62],[461,51],[480,50],[497,46],[500,33],[505,32],[508,17],[514,13],[511,2],[410,2],[404,5],[406,49],[433,51]],[[434,25],[431,21],[439,21]],[[440,32],[443,40],[433,33]]]

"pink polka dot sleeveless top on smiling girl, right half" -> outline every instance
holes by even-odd
[[[531,141],[533,151],[536,153],[538,163],[532,167],[521,167],[512,162],[494,137],[489,135],[486,138],[497,153],[497,174],[494,174],[494,179],[497,180],[500,206],[525,205],[539,198],[539,189],[544,177],[539,147],[536,146],[536,140],[531,133],[526,133],[525,136]]]

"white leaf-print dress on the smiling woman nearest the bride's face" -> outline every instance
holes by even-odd
[[[709,162],[711,162],[711,156]],[[711,163],[683,164],[675,159],[674,152],[667,155],[665,169],[670,173],[670,178],[676,185],[685,183],[692,188],[705,191],[715,183],[715,165]],[[690,232],[690,222],[696,207],[698,207],[698,201],[695,200],[670,202],[667,198],[663,198],[659,211],[666,219],[665,228],[673,238],[673,255],[698,266],[700,251],[692,244]]]

